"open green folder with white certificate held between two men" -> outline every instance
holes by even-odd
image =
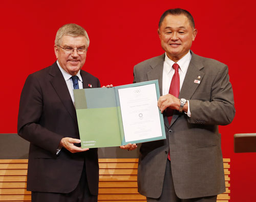
[[[112,88],[75,89],[82,148],[111,147],[165,139],[157,101],[158,81]]]

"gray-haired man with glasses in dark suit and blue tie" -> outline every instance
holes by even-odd
[[[32,201],[97,201],[97,149],[80,147],[73,89],[100,87],[80,70],[89,37],[75,24],[55,38],[57,61],[28,76],[18,113],[18,134],[30,142],[27,189]]]

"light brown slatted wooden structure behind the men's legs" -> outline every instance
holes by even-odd
[[[230,199],[230,159],[223,159],[226,192],[218,202]],[[138,159],[99,159],[99,196],[101,202],[146,201],[137,191]],[[28,160],[0,160],[0,201],[31,201],[27,187]]]

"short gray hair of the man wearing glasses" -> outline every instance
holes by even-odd
[[[60,40],[62,36],[69,35],[69,36],[84,36],[86,37],[86,42],[87,42],[87,48],[89,47],[90,44],[90,39],[89,36],[81,26],[76,25],[76,24],[66,24],[63,25],[61,28],[58,29],[55,37],[55,45],[60,45]]]

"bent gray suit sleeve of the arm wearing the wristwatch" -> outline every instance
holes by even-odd
[[[227,125],[232,122],[236,110],[226,65],[219,69],[210,91],[209,101],[193,98],[189,100],[189,123]]]

